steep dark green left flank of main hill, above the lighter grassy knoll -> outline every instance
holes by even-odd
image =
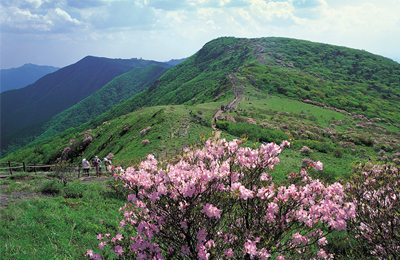
[[[233,91],[228,74],[256,59],[253,48],[246,39],[223,37],[211,41],[152,86],[90,122],[89,127],[141,107],[229,99]]]

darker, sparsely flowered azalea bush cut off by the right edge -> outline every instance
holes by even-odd
[[[371,255],[400,259],[400,172],[371,162],[354,167],[346,193],[356,205],[350,233],[366,242]]]

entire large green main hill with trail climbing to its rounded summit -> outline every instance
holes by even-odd
[[[154,149],[179,149],[190,139],[180,134],[179,141],[176,132],[190,133],[188,126],[197,129],[192,137],[211,132],[212,116],[221,105],[236,109],[218,115],[220,121],[231,121],[217,124],[230,138],[294,138],[297,148],[307,146],[318,154],[314,156],[331,162],[343,154],[349,163],[378,152],[382,158],[385,153],[386,159],[395,158],[399,72],[398,63],[360,50],[286,38],[219,38],[97,118],[7,159],[51,163],[65,155],[70,140],[80,144],[89,133],[92,141],[77,145],[68,159],[79,162],[82,156],[111,152],[118,162]],[[158,112],[155,106],[161,106]],[[143,120],[145,111],[150,112]],[[166,114],[176,115],[164,120],[160,115]],[[249,127],[253,124],[257,127]],[[151,145],[143,146],[145,136],[139,133],[149,126]]]

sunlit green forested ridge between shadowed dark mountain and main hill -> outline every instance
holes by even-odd
[[[116,77],[100,90],[60,114],[4,136],[1,144],[2,155],[5,156],[34,140],[41,140],[86,123],[139,93],[167,70],[153,64],[145,68],[135,68]]]

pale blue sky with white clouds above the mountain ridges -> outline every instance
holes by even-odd
[[[221,36],[290,37],[400,62],[400,0],[1,0],[0,65],[167,61]]]

